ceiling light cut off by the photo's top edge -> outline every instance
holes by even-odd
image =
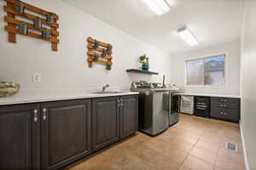
[[[165,0],[143,0],[151,10],[158,15],[166,14],[170,11],[170,7]]]

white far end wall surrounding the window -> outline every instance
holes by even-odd
[[[228,53],[226,86],[222,88],[188,88],[185,86],[185,61],[206,57],[211,54]],[[196,94],[240,94],[240,41],[219,44],[209,48],[196,49],[182,54],[173,54],[171,62],[171,82],[188,93]]]

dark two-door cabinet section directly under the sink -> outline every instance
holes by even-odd
[[[124,139],[137,128],[137,95],[92,100],[92,150]]]

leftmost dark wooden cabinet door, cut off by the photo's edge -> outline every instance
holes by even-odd
[[[0,106],[0,169],[40,168],[39,105]]]

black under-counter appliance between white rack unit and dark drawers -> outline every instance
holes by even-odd
[[[210,98],[204,96],[195,96],[195,116],[210,117]]]

